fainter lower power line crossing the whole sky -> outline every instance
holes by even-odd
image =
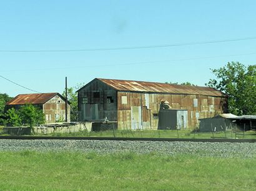
[[[139,65],[139,64],[151,64],[151,63],[164,63],[164,62],[175,62],[175,61],[184,61],[184,60],[201,60],[209,58],[222,58],[222,57],[235,57],[240,55],[255,55],[256,52],[245,53],[245,54],[230,54],[230,55],[219,55],[212,57],[195,57],[195,58],[180,58],[172,60],[154,60],[154,61],[145,61],[145,62],[128,62],[128,63],[113,63],[106,65],[84,65],[84,66],[74,66],[74,67],[52,67],[52,68],[35,68],[35,69],[24,69],[24,70],[1,70],[1,72],[21,72],[21,71],[39,71],[39,70],[61,70],[61,69],[72,69],[72,68],[96,68],[96,67],[115,67],[115,66],[125,66],[125,65]]]

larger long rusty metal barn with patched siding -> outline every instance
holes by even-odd
[[[95,78],[77,93],[80,121],[107,118],[118,129],[192,128],[227,111],[227,96],[202,86]],[[161,100],[170,108],[160,120]]]

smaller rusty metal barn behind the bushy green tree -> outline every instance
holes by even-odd
[[[19,109],[22,105],[32,104],[42,109],[46,123],[56,123],[66,119],[66,99],[59,93],[20,94],[6,103],[6,110]],[[67,121],[70,122],[70,105],[67,104]]]

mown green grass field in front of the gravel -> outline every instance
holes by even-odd
[[[0,152],[1,190],[254,190],[256,158]]]

